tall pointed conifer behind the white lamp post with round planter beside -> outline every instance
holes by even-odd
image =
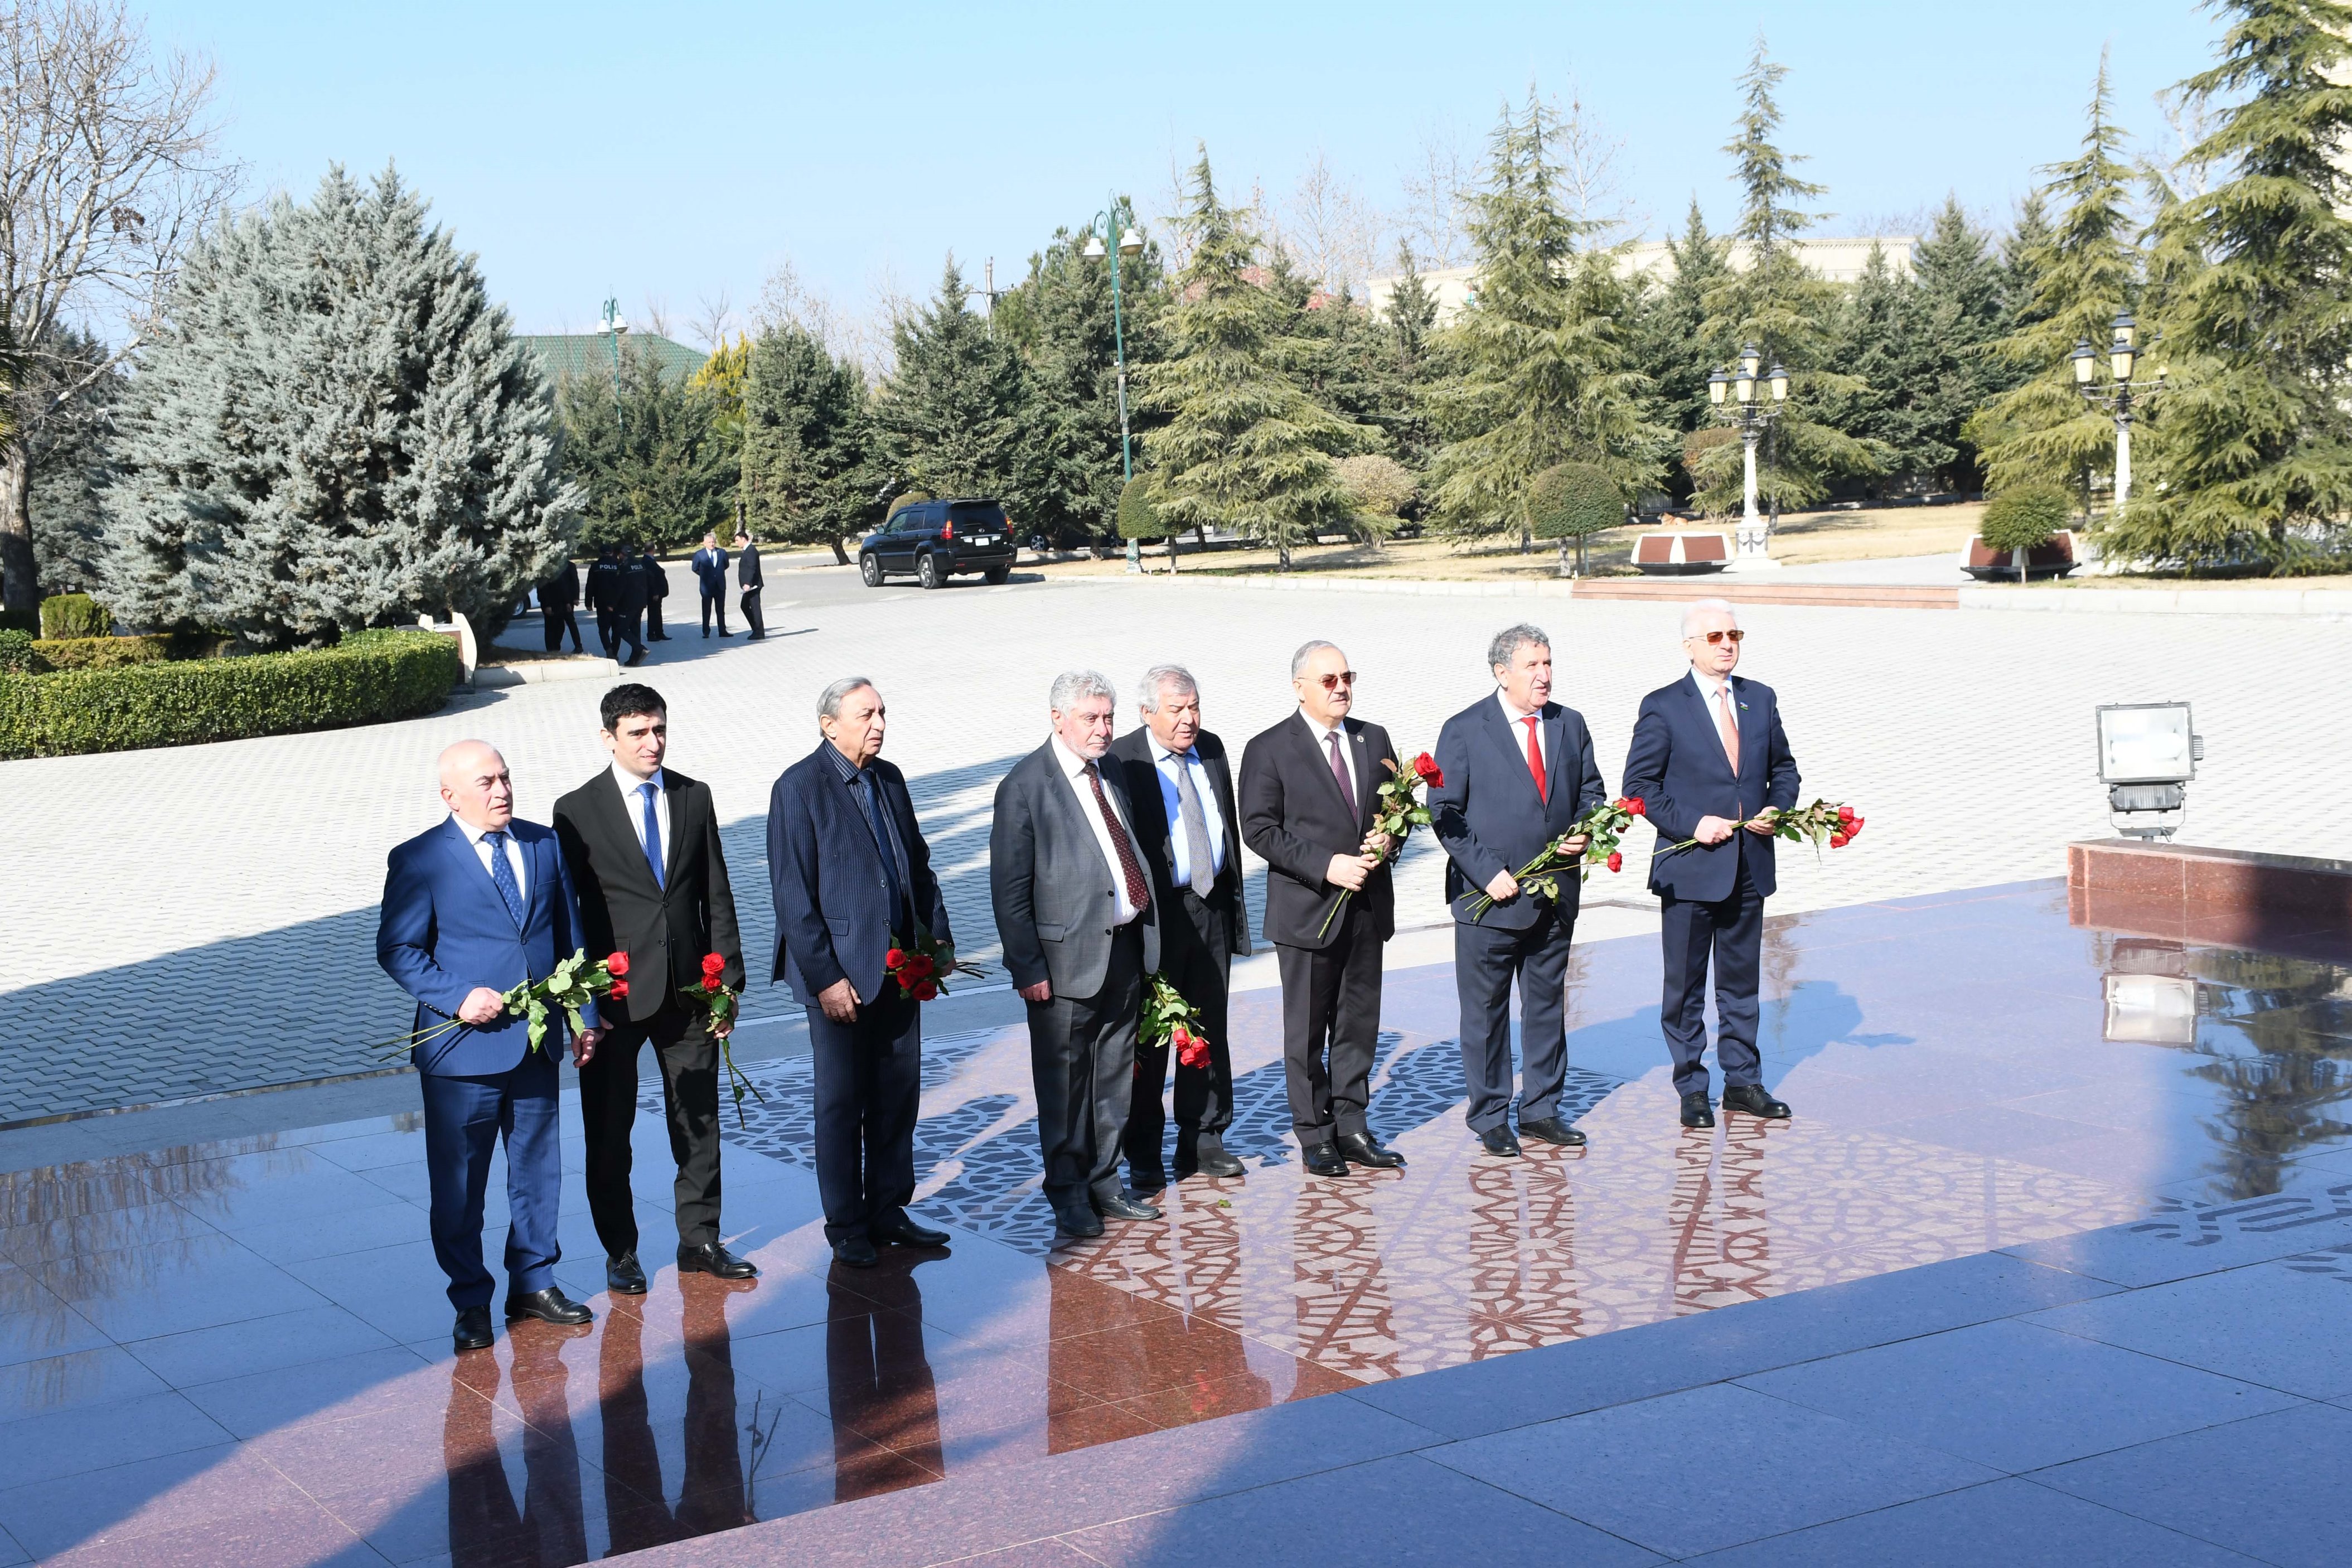
[[[1710,341],[1755,343],[1764,355],[1759,369],[1780,364],[1790,371],[1790,397],[1764,428],[1757,449],[1757,496],[1773,515],[1818,501],[1837,475],[1882,473],[1893,461],[1886,447],[1853,440],[1825,423],[1837,397],[1863,388],[1856,376],[1830,369],[1844,301],[1835,284],[1804,266],[1792,244],[1818,221],[1799,202],[1818,200],[1823,186],[1797,179],[1792,165],[1804,158],[1783,153],[1773,141],[1780,129],[1773,89],[1785,75],[1788,66],[1776,63],[1757,35],[1748,71],[1740,73],[1740,132],[1724,143],[1733,160],[1731,179],[1740,188],[1740,223],[1733,233],[1748,244],[1748,266],[1708,292],[1703,327]],[[1740,508],[1740,444],[1700,447],[1700,473],[1691,475],[1700,484],[1698,503],[1710,512]]]

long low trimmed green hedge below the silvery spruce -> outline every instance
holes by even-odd
[[[332,649],[115,670],[0,675],[0,757],[381,724],[440,708],[463,672],[440,632],[358,632]]]

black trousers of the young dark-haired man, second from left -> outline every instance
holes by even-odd
[[[630,1124],[637,1117],[637,1046],[661,1060],[670,1159],[677,1161],[677,1241],[720,1239],[720,1044],[677,999],[652,1018],[614,1025],[581,1067],[581,1124],[588,1133],[588,1215],[609,1255],[637,1251],[637,1206],[628,1190]]]

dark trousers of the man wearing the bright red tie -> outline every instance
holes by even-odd
[[[1501,926],[1454,926],[1454,990],[1463,1004],[1463,1084],[1470,1088],[1465,1119],[1472,1133],[1510,1117],[1510,983],[1519,983],[1519,1053],[1524,1077],[1519,1121],[1559,1112],[1559,1086],[1569,1077],[1569,940],[1576,917],[1545,903],[1524,931]]]

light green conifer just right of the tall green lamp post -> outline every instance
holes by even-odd
[[[1230,527],[1291,552],[1352,524],[1334,456],[1378,437],[1315,402],[1284,364],[1291,310],[1256,275],[1249,212],[1225,207],[1209,150],[1192,165],[1183,214],[1192,242],[1169,308],[1169,357],[1143,376],[1143,402],[1167,416],[1145,442],[1162,515],[1185,529]]]

